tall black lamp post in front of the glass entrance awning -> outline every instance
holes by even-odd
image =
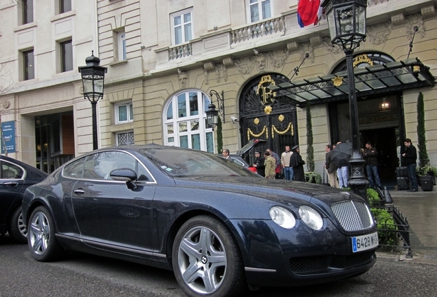
[[[355,92],[355,76],[353,68],[353,52],[359,43],[366,39],[367,0],[326,0],[322,4],[328,17],[331,43],[339,45],[346,54],[346,67],[349,87],[350,140],[352,157],[350,158],[351,190],[367,199],[368,181],[364,175],[365,161],[361,155],[359,143],[359,124],[357,110],[357,94]]]

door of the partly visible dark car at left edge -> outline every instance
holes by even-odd
[[[21,166],[0,160],[0,223],[7,223],[10,212],[22,199],[25,170]]]

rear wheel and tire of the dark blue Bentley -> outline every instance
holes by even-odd
[[[37,261],[56,261],[65,254],[65,250],[56,240],[52,216],[43,206],[35,208],[30,215],[27,243],[30,253]]]

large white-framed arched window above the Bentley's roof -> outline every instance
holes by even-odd
[[[198,90],[172,96],[164,107],[164,144],[214,153],[214,133],[205,113],[210,102]]]

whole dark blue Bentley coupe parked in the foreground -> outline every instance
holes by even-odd
[[[37,261],[76,250],[173,270],[188,296],[338,281],[376,262],[359,196],[264,179],[188,148],[102,148],[58,168],[23,199]]]

